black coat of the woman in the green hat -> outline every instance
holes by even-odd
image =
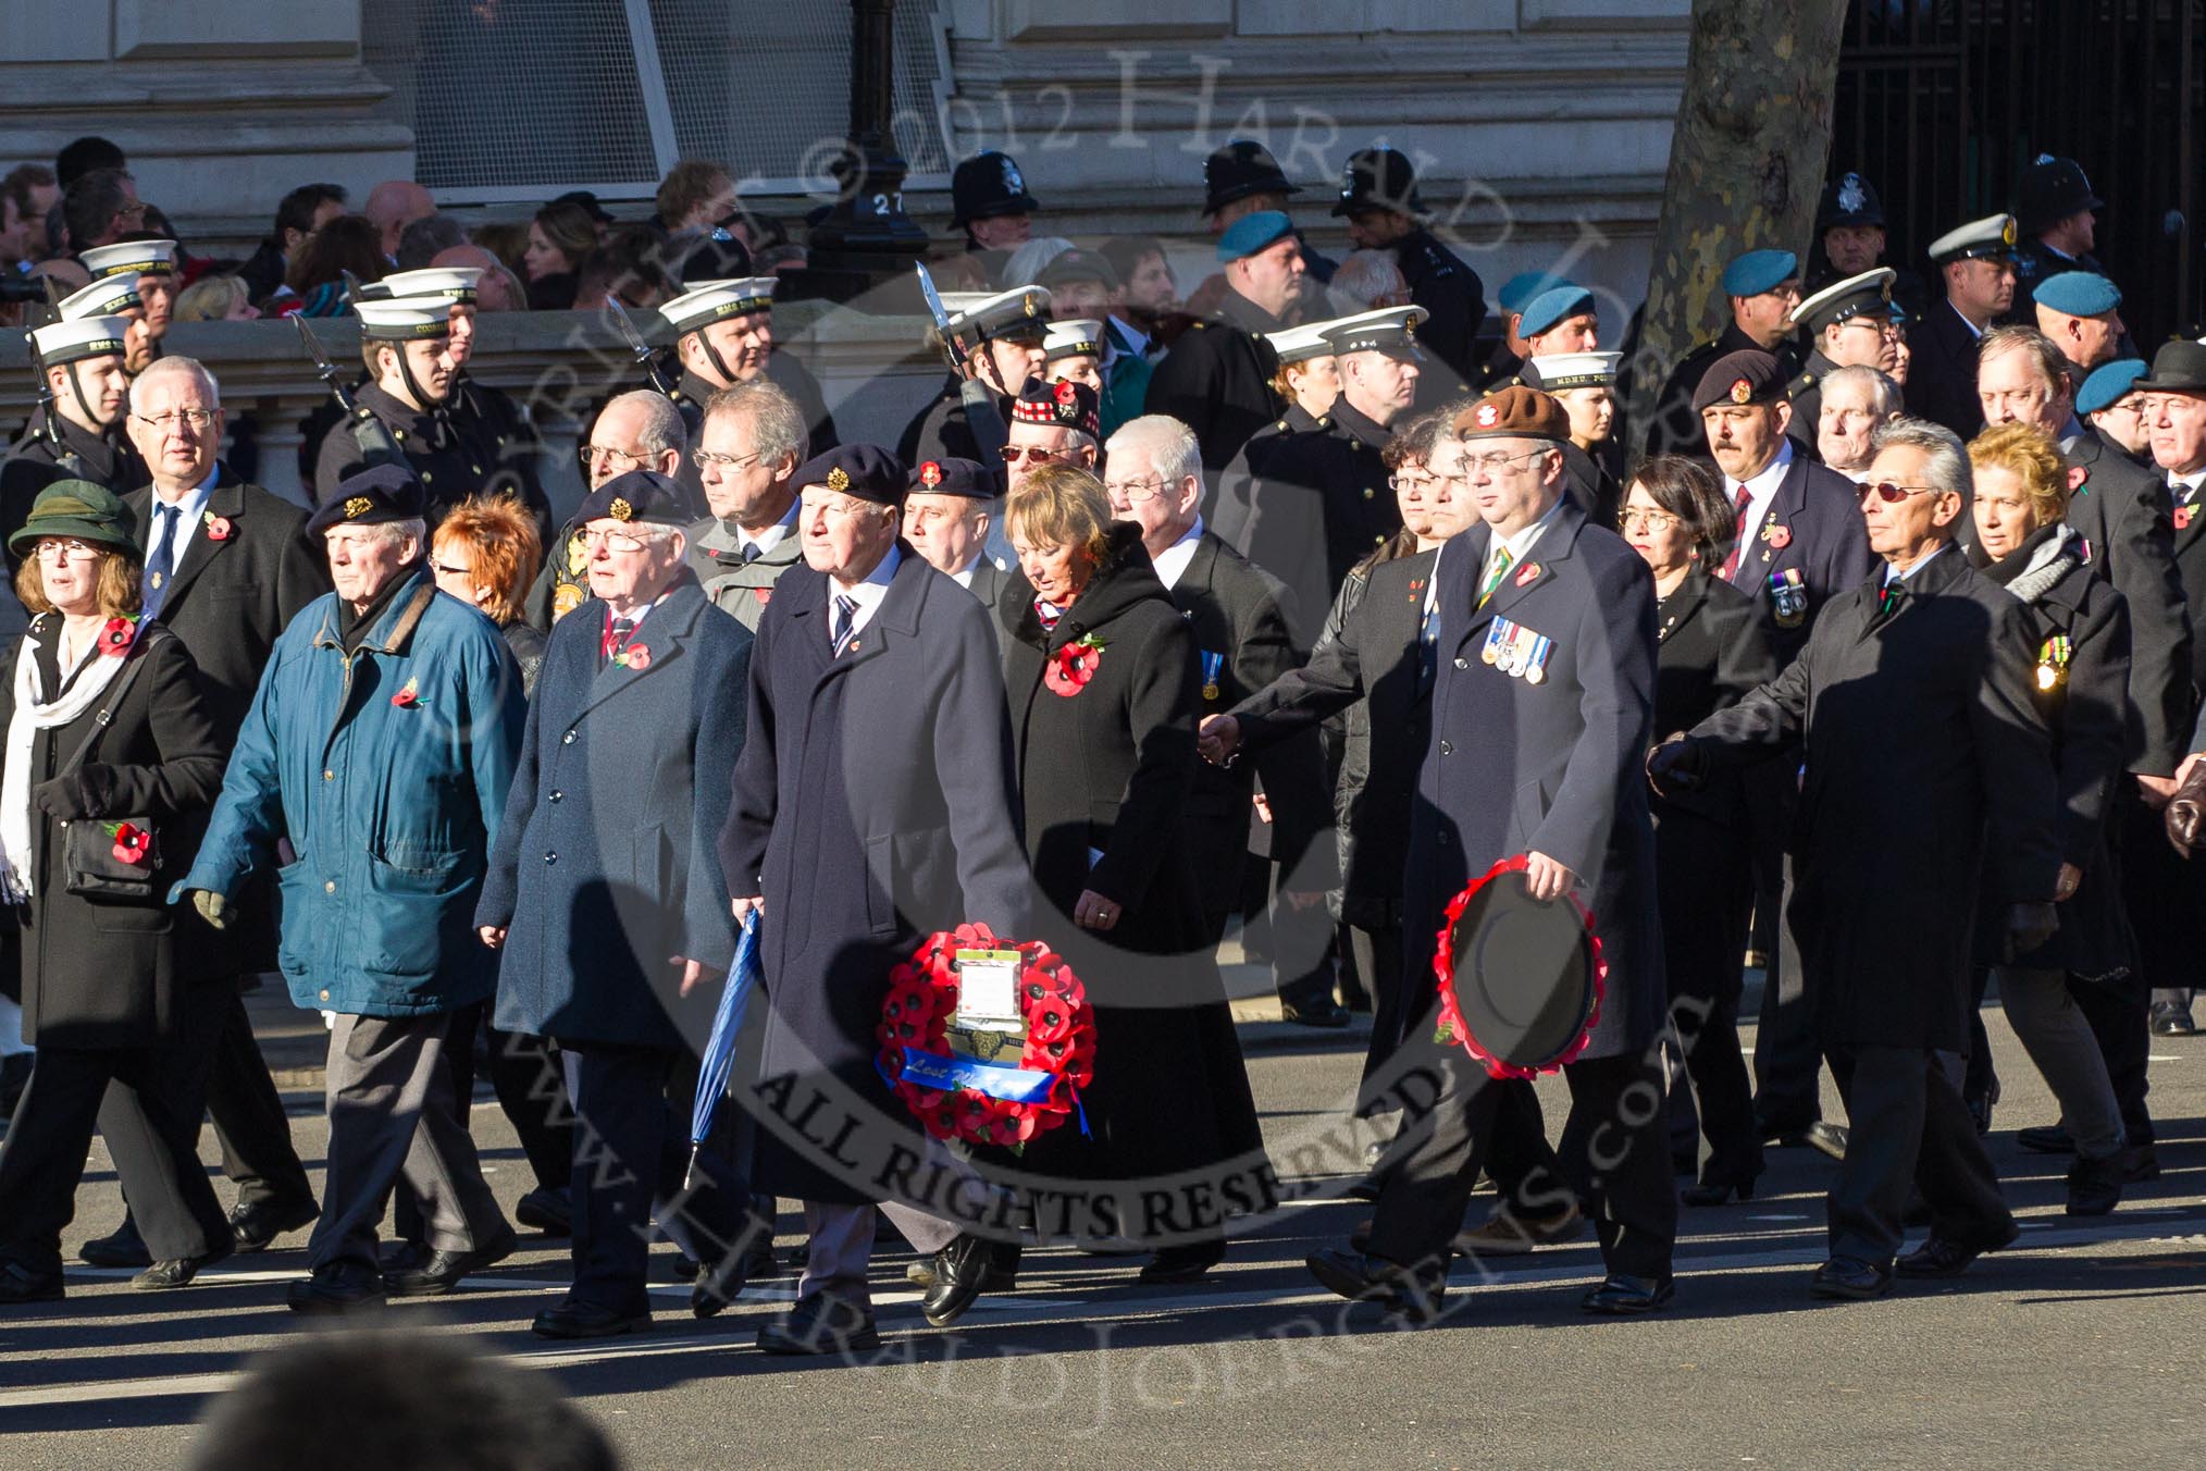
[[[40,662],[49,692],[62,679],[60,637],[60,613],[46,613],[22,635],[18,653]],[[31,787],[55,776],[108,710],[108,728],[86,756],[86,765],[106,767],[104,781],[86,783],[106,787],[106,801],[97,812],[73,805],[79,814],[73,820],[152,818],[161,845],[154,891],[148,900],[68,893],[62,823],[33,805],[33,895],[15,913],[22,922],[22,1034],[42,1048],[152,1045],[174,1032],[183,1008],[221,1006],[201,992],[232,975],[218,959],[225,948],[207,944],[212,931],[199,913],[163,902],[168,880],[192,867],[205,836],[207,809],[223,785],[225,739],[210,719],[183,640],[154,624],[126,657],[143,668],[119,701],[110,684],[75,721],[33,737]],[[0,730],[15,715],[13,670],[11,659],[0,688]],[[115,673],[117,684],[124,673]]]

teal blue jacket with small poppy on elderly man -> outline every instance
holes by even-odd
[[[335,593],[276,640],[172,891],[232,895],[289,838],[276,962],[298,1006],[351,1017],[443,1012],[496,988],[474,904],[527,715],[499,629],[426,569],[399,576],[351,655]]]

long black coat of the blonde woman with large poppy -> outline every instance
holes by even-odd
[[[1187,845],[1200,673],[1187,620],[1156,580],[1141,529],[1110,551],[1057,629],[1043,631],[1026,578],[997,604],[1004,686],[1017,741],[1037,924],[1096,1006],[1088,1123],[1026,1147],[1021,1164],[1081,1180],[1134,1180],[1246,1160],[1262,1149],[1255,1098],[1211,951]],[[1048,662],[1103,640],[1072,695],[1043,686]],[[1110,933],[1072,924],[1083,889],[1118,909]]]

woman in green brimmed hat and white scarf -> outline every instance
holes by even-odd
[[[192,862],[223,752],[183,640],[139,618],[130,525],[113,492],[60,481],[9,538],[22,558],[15,587],[38,618],[0,704],[0,889],[22,926],[38,1067],[0,1145],[0,1303],[62,1297],[62,1228],[110,1081],[139,1105],[135,1127],[108,1131],[154,1257],[132,1286],[181,1288],[232,1250],[199,1162],[227,951],[165,902],[165,876]],[[73,827],[90,829],[79,858],[99,865],[108,891],[71,891]]]

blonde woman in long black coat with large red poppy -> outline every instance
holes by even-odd
[[[1224,1259],[1224,1215],[1266,1204],[1246,1182],[1268,1169],[1180,827],[1198,761],[1196,646],[1141,527],[1112,525],[1085,470],[1028,476],[1006,527],[1024,576],[997,615],[1041,937],[1096,1006],[1090,1136],[1046,1134],[1019,1167],[1068,1184],[1156,1182],[1169,1211],[1127,1187],[1114,1222],[1090,1211],[1070,1231],[1156,1242],[1143,1279],[1191,1281]],[[1167,1184],[1187,1171],[1209,1191]],[[1037,1224],[1054,1226],[1046,1206]]]

